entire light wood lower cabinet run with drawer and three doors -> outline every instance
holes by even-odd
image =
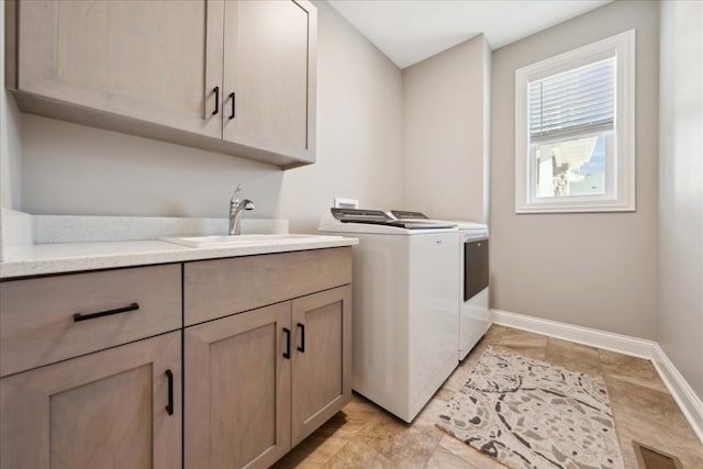
[[[352,399],[350,282],[349,246],[0,281],[0,468],[269,467]]]

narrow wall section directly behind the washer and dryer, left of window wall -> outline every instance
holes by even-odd
[[[406,210],[488,220],[489,67],[481,34],[403,70]]]

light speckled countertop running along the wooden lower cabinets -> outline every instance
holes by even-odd
[[[322,249],[356,244],[358,244],[356,238],[321,235],[276,243],[260,242],[208,247],[188,247],[164,241],[7,246],[3,260],[0,263],[0,278]]]

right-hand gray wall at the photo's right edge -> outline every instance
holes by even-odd
[[[703,3],[661,3],[659,331],[703,400]]]

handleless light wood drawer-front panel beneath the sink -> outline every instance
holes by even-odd
[[[352,283],[352,247],[187,263],[186,325]]]

